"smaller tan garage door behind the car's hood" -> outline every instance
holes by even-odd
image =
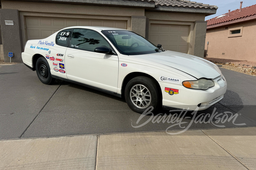
[[[155,45],[162,44],[163,49],[187,53],[188,31],[187,25],[151,24],[149,40]]]

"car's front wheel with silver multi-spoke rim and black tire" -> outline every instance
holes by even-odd
[[[154,108],[151,112],[159,110],[162,106],[160,93],[155,80],[138,76],[127,83],[124,95],[131,110],[143,113],[151,106]]]

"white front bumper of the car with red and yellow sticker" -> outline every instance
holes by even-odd
[[[227,90],[227,82],[222,77],[221,75],[213,79],[214,87],[207,90],[195,90],[183,85],[158,82],[163,95],[163,106],[187,110],[196,110],[198,107],[198,110],[205,110],[223,99]],[[176,93],[168,93],[168,90]]]

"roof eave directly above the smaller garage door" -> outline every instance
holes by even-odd
[[[160,7],[156,6],[153,9],[147,9],[146,11],[155,12],[178,12],[178,13],[195,13],[205,14],[206,16],[216,14],[217,9],[197,9],[197,8],[177,8],[177,7]]]

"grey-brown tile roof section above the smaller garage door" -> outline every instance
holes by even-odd
[[[156,0],[155,5],[161,5],[163,7],[184,7],[184,8],[203,8],[203,9],[218,9],[216,5],[208,5],[203,3],[197,3],[187,0]]]

